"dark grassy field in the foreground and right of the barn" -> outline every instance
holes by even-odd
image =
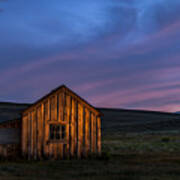
[[[1,180],[178,180],[180,134],[141,133],[103,137],[103,158],[0,161]]]

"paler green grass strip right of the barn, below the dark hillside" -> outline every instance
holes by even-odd
[[[103,138],[104,151],[111,154],[178,153],[180,133],[134,133]]]

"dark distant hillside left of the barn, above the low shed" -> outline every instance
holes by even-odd
[[[0,122],[19,119],[29,104],[0,102]]]

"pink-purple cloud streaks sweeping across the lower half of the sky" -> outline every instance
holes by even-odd
[[[104,37],[103,39],[91,43],[83,47],[82,49],[76,49],[71,51],[69,50],[67,52],[43,59],[33,59],[28,64],[9,68],[4,72],[0,73],[0,82],[2,85],[1,90],[3,90],[3,92],[1,92],[1,96],[4,94],[11,94],[11,92],[13,91],[33,89],[33,93],[31,95],[27,94],[27,96],[32,96],[35,98],[39,97],[41,94],[46,93],[50,90],[50,88],[54,88],[58,85],[58,83],[66,83],[67,80],[68,82],[70,82],[70,86],[73,89],[75,89],[79,93],[87,94],[88,100],[92,104],[98,106],[123,107],[128,106],[131,103],[143,100],[150,100],[160,97],[166,98],[169,95],[173,94],[178,95],[180,94],[179,88],[168,89],[167,87],[179,85],[180,66],[177,66],[180,58],[179,52],[173,55],[168,55],[167,57],[163,57],[162,54],[159,59],[154,58],[152,54],[152,59],[150,59],[149,61],[153,61],[155,65],[158,65],[157,67],[152,65],[152,67],[147,70],[141,69],[139,72],[132,71],[127,74],[121,74],[121,71],[126,71],[129,67],[128,65],[120,67],[121,63],[119,63],[119,65],[115,65],[110,69],[108,65],[103,66],[103,61],[111,61],[112,59],[117,58],[120,59],[119,61],[124,62],[124,59],[126,61],[126,58],[130,55],[146,55],[146,53],[149,53],[150,51],[162,49],[169,43],[174,43],[174,39],[176,37],[175,35],[179,33],[179,28],[180,23],[176,22],[172,26],[164,28],[159,33],[148,36],[144,41],[140,42],[139,44],[133,44],[125,47],[117,46],[121,38],[121,35],[117,33],[112,36]],[[110,47],[110,45],[112,45],[112,47]],[[166,51],[166,49],[164,51]],[[79,76],[74,76],[74,74],[76,75],[76,73],[74,72],[72,72],[72,74],[66,74],[66,70],[55,70],[54,72],[47,74],[42,73],[44,68],[48,69],[49,65],[52,65],[56,62],[74,61],[74,63],[76,63],[79,60],[83,62],[90,61],[91,59],[94,62],[97,61],[99,63],[102,63],[103,69],[99,68],[101,66],[99,66],[98,68],[94,67],[94,69],[89,70],[88,68],[86,68],[83,70],[84,74],[80,74]],[[146,59],[144,59],[144,61],[146,62]],[[133,65],[135,60],[132,58],[130,62]],[[168,62],[169,64],[161,66],[163,64],[162,62]],[[176,62],[176,64],[173,64],[174,62]],[[134,63],[134,66],[135,65],[136,64]],[[138,66],[140,65],[141,64],[138,64]],[[74,71],[78,72],[78,69],[75,69]],[[92,74],[94,76],[96,76],[96,73],[102,74],[102,76],[108,73],[116,73],[112,77],[109,76],[109,78],[105,80],[81,78],[87,75],[86,71],[88,71],[89,74]],[[39,73],[37,73],[35,76],[33,72]],[[117,72],[119,72],[118,75]],[[73,78],[78,80],[71,80]],[[146,81],[146,78],[150,81],[149,84]],[[129,89],[127,89],[126,86],[123,87],[124,84],[133,84],[134,81],[137,81],[139,79],[142,79],[142,81],[144,81],[144,84],[135,84],[134,87],[130,86]],[[114,87],[114,90],[112,90],[112,92],[103,92],[103,88],[108,89],[111,85],[113,85]],[[122,85],[122,87],[120,87],[119,85]],[[40,89],[38,89],[38,87],[40,87]],[[37,89],[34,90],[35,88]],[[158,90],[158,88],[160,88],[160,90]],[[102,93],[92,93],[91,95],[89,95],[90,92],[95,91],[96,89],[102,89]],[[171,105],[161,105],[161,107],[155,107],[155,109],[173,111],[178,107],[178,104]],[[153,106],[149,106],[149,108],[153,109]]]

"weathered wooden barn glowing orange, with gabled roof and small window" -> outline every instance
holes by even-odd
[[[28,159],[101,154],[101,113],[64,85],[25,108],[20,119],[0,124],[0,135],[1,126],[20,131],[11,149],[19,145]]]

